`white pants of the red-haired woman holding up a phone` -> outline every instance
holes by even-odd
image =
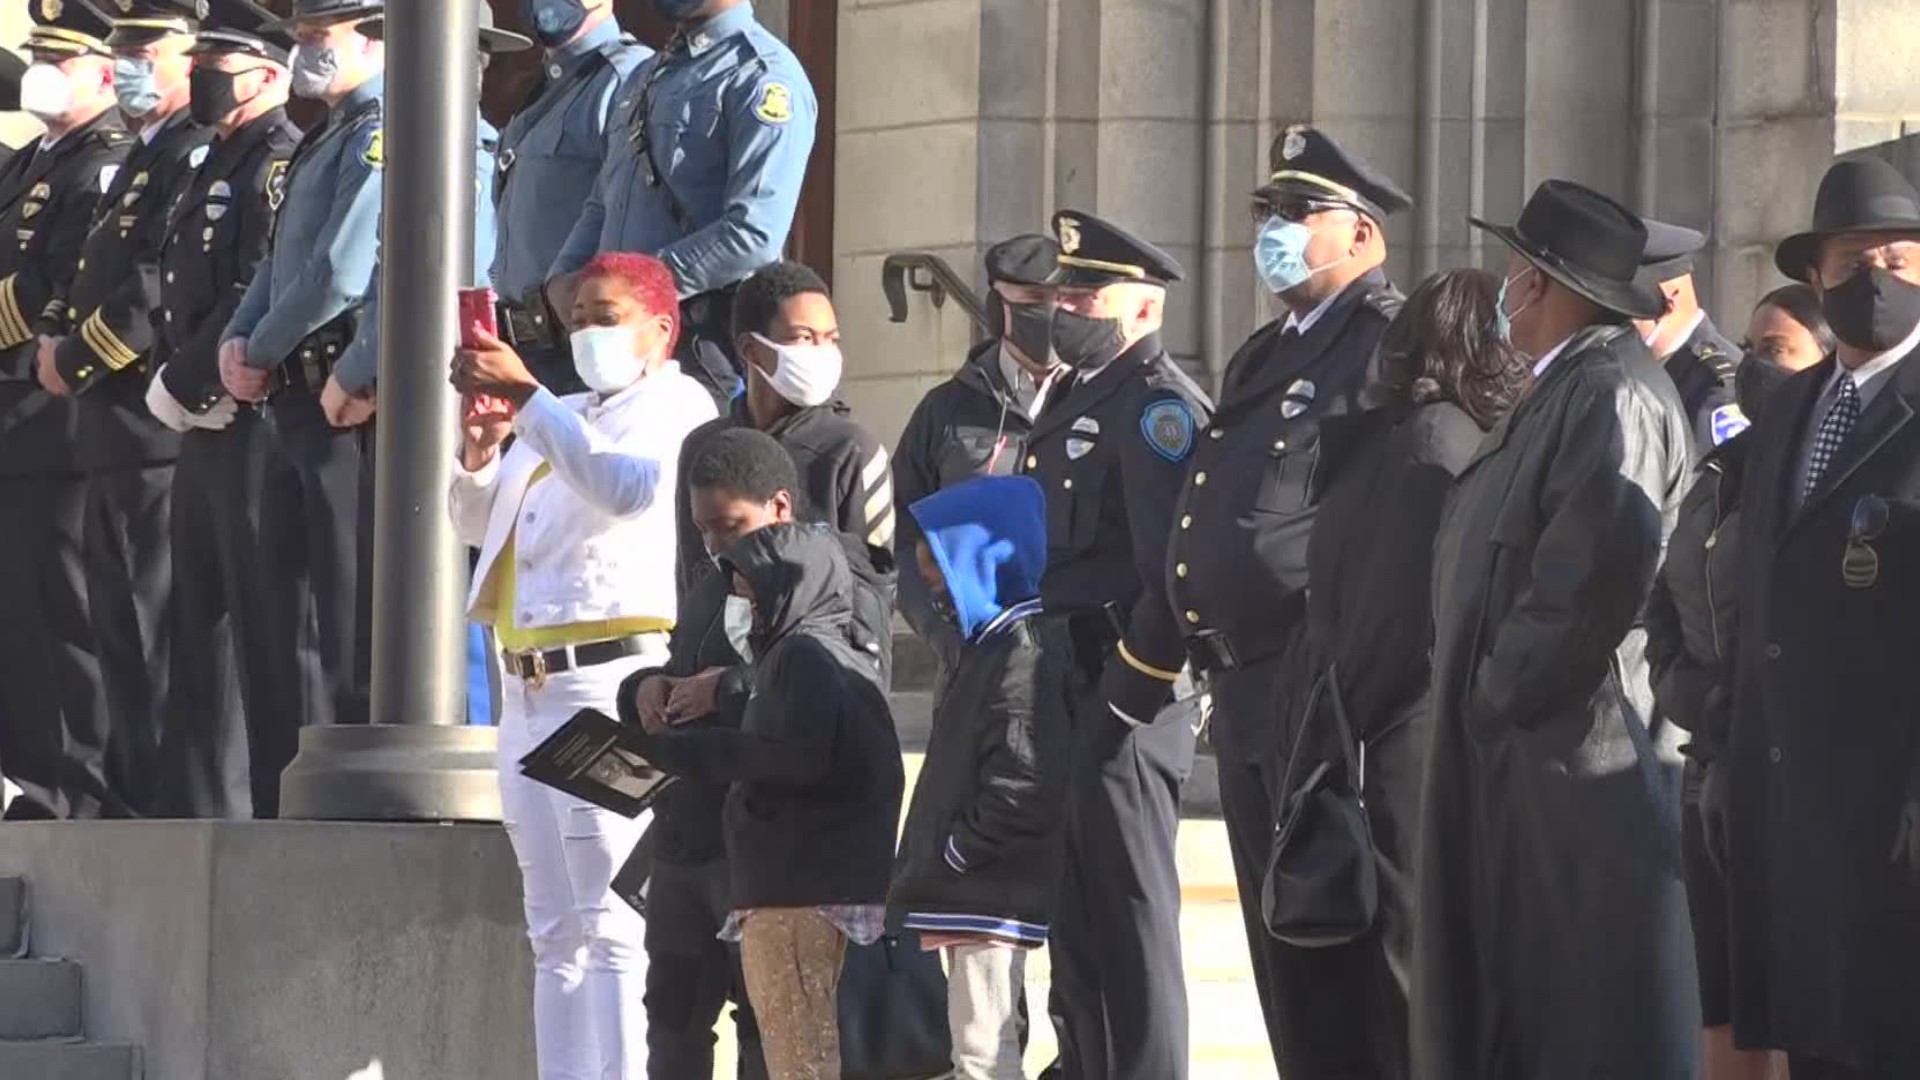
[[[499,801],[534,945],[540,1080],[647,1076],[645,924],[609,884],[651,815],[628,821],[536,784],[520,757],[580,709],[616,715],[620,680],[664,663],[666,634],[647,634],[639,655],[563,671],[540,690],[501,675]]]

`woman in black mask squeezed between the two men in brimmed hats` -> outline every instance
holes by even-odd
[[[1780,382],[1834,350],[1834,331],[1820,315],[1814,290],[1795,282],[1761,298],[1741,348],[1745,359],[1734,375],[1738,429],[1699,463],[1667,542],[1667,565],[1647,598],[1653,700],[1668,723],[1693,736],[1682,748],[1680,855],[1707,1026],[1707,1080],[1766,1080],[1772,1074],[1766,1053],[1734,1047],[1726,882],[1707,857],[1699,817],[1707,763],[1726,746],[1734,705],[1734,569],[1740,565],[1740,477],[1747,459],[1747,440],[1738,432],[1759,419]]]

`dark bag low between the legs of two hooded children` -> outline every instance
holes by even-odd
[[[948,1076],[947,970],[912,930],[847,945],[839,992],[841,1080]]]

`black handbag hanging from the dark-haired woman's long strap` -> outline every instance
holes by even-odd
[[[1338,728],[1340,763],[1321,759],[1294,788],[1323,698]],[[1338,673],[1329,665],[1308,694],[1308,709],[1286,759],[1281,780],[1286,803],[1273,826],[1267,876],[1260,886],[1267,934],[1288,945],[1344,945],[1373,930],[1380,915],[1380,867],[1361,794],[1365,753],[1365,744],[1354,738],[1348,723]]]

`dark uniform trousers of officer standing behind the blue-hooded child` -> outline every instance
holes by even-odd
[[[1069,675],[1073,761],[1048,1013],[1066,1080],[1179,1080],[1187,974],[1173,842],[1194,732],[1179,717],[1139,728],[1116,717],[1100,694],[1108,655],[1077,657]]]

